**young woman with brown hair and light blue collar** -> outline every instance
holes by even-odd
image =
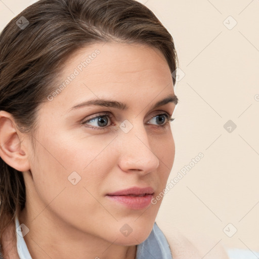
[[[133,0],[41,0],[4,28],[3,258],[201,258],[155,223],[176,69],[171,35]]]

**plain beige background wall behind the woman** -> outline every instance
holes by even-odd
[[[0,29],[34,2],[0,0]],[[259,251],[259,1],[139,2],[171,33],[182,70],[168,182],[204,154],[165,194],[156,222],[168,239],[175,227],[212,238],[208,251],[219,243]]]

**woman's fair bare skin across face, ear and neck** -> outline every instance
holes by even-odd
[[[26,184],[19,222],[30,230],[24,239],[33,259],[135,258],[136,245],[149,236],[162,200],[130,209],[106,194],[151,186],[157,196],[174,163],[170,124],[160,115],[165,119],[161,127],[155,117],[171,116],[176,105],[151,109],[174,95],[169,67],[158,50],[118,42],[80,49],[65,63],[56,88],[95,49],[100,54],[52,101],[40,105],[35,150],[12,116],[0,112],[1,145],[6,142],[0,155],[22,171]],[[87,106],[69,112],[99,98],[124,102],[128,109]],[[101,112],[111,115],[108,125],[99,126],[97,119],[81,124]],[[125,119],[133,125],[128,133],[119,127]],[[68,181],[73,171],[81,177],[76,185]],[[128,236],[120,232],[124,224],[133,230]]]

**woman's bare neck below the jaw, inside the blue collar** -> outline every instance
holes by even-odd
[[[48,209],[37,216],[33,215],[33,210],[25,207],[19,215],[19,223],[29,228],[24,240],[33,259],[46,259],[46,256],[63,259],[136,258],[136,245],[115,245],[100,237],[82,233],[55,218]]]

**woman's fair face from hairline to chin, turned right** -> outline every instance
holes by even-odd
[[[173,99],[159,105],[174,96],[166,60],[150,47],[114,42],[80,49],[64,65],[56,94],[38,111],[26,210],[33,224],[54,222],[77,237],[143,242],[161,200],[130,197],[140,203],[129,205],[107,194],[151,187],[156,197],[165,188],[175,157],[165,114],[176,106]],[[90,100],[99,105],[80,105]]]

